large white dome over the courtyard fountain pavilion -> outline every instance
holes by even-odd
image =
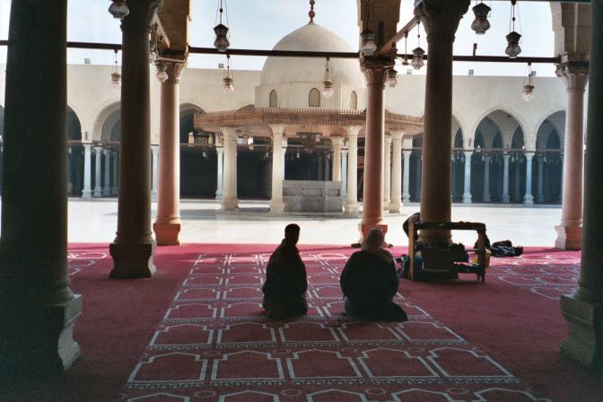
[[[293,31],[279,40],[273,50],[353,51],[347,46],[344,39],[314,22],[302,26],[299,30]],[[363,87],[363,76],[357,59],[331,59],[331,71],[336,87],[339,85],[359,89]],[[314,83],[319,85],[324,80],[324,76],[324,58],[268,57],[262,68],[259,85],[279,83]]]

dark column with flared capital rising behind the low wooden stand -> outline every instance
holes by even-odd
[[[452,149],[452,44],[469,0],[423,0],[415,16],[427,32],[427,76],[423,139],[421,219],[450,222],[450,157]],[[424,242],[450,242],[450,231],[420,232]]]

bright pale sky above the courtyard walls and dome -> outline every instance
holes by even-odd
[[[15,0],[16,1],[16,0]],[[214,43],[213,27],[219,0],[191,0],[193,2],[193,21],[191,22],[190,41],[192,46],[212,47]],[[414,0],[401,0],[400,22],[402,27],[413,15]],[[8,38],[10,0],[0,0],[0,38]],[[475,5],[472,2],[472,6]],[[510,2],[487,1],[493,11],[490,17],[492,28],[485,35],[478,36],[471,30],[473,21],[471,10],[461,20],[455,42],[455,55],[470,55],[474,43],[477,54],[505,56],[505,35],[509,32]],[[231,29],[232,48],[273,48],[275,43],[287,33],[300,28],[309,21],[308,0],[226,0],[229,28]],[[107,12],[107,0],[71,0],[68,14],[68,40],[119,43],[121,31],[119,22],[113,20]],[[554,56],[554,35],[551,28],[551,11],[546,2],[518,2],[519,21],[516,31],[523,37],[521,56]],[[358,48],[358,27],[356,0],[316,0],[315,22],[345,39],[350,48]],[[427,49],[422,29],[422,47]],[[416,47],[416,31],[409,35],[408,50]],[[404,42],[398,43],[398,49],[404,49]],[[88,57],[92,64],[112,64],[112,51],[70,49],[68,63],[82,64]],[[0,63],[6,60],[6,49],[0,48]],[[215,68],[223,63],[225,57],[192,55],[189,67]],[[232,57],[232,68],[261,70],[263,57]],[[468,74],[474,69],[476,75],[523,75],[527,66],[521,64],[492,63],[455,63],[454,74]],[[402,66],[398,68],[401,71]],[[554,75],[551,65],[535,65],[539,76]],[[424,74],[424,69],[420,74]]]

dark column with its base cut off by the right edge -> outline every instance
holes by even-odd
[[[569,326],[569,335],[561,345],[561,352],[588,367],[600,370],[603,368],[603,188],[600,184],[603,177],[603,36],[600,34],[603,31],[602,0],[590,2],[590,23],[590,83],[586,127],[587,152],[584,163],[581,272],[578,292],[572,296],[561,296],[561,310]],[[569,159],[567,149],[565,153],[565,159]]]

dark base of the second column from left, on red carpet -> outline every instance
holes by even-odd
[[[135,279],[150,278],[157,268],[153,264],[155,242],[150,243],[111,243],[109,253],[113,258],[113,269],[109,278]]]

